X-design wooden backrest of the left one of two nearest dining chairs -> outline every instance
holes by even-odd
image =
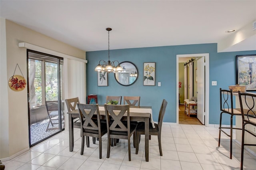
[[[77,107],[80,113],[81,128],[88,130],[100,130],[100,113],[98,104],[88,105],[78,103]],[[97,114],[97,121],[96,119],[92,119],[95,112]],[[82,119],[82,117],[85,119]]]

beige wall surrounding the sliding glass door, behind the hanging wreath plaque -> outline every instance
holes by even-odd
[[[19,42],[31,43],[40,47],[44,47],[46,49],[51,49],[53,51],[58,51],[60,53],[64,53],[81,59],[86,59],[85,51],[72,47],[66,43],[54,40],[48,36],[44,36],[43,34],[15,24],[14,22],[6,20],[5,24],[7,79],[3,81],[6,84],[8,84],[9,78],[12,77],[17,63],[20,66],[24,77],[27,77],[26,48],[18,47]],[[1,24],[1,27],[2,26],[3,24]],[[2,44],[1,41],[1,49],[2,45],[4,44]],[[19,69],[16,69],[16,73],[21,74],[19,73]],[[6,99],[8,99],[8,105],[6,105],[5,107],[8,107],[8,114],[6,114],[8,115],[8,118],[6,118],[6,120],[8,121],[8,127],[2,127],[1,124],[0,128],[5,128],[4,133],[8,135],[3,137],[1,134],[0,158],[10,158],[18,152],[29,148],[27,103],[28,91],[27,89],[24,89],[23,91],[17,92],[13,91],[10,88],[7,89],[8,97]],[[3,115],[4,113],[1,112],[1,119],[3,118]],[[6,117],[6,115],[4,116]],[[8,145],[6,144],[6,141],[8,141]]]

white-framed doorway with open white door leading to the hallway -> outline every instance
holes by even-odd
[[[189,65],[193,71],[192,77],[189,76],[189,66],[184,69],[184,63],[194,60],[194,65]],[[203,63],[202,63],[203,61]],[[197,65],[199,63],[199,65]],[[177,124],[190,125],[206,125],[209,126],[209,53],[176,55],[176,82],[177,82],[177,110],[176,122]],[[183,71],[184,76],[180,77],[179,72]],[[187,72],[186,72],[187,71]],[[185,74],[186,72],[186,74]],[[188,76],[188,77],[185,77]],[[198,77],[199,76],[199,77]],[[183,79],[183,81],[182,81]],[[185,81],[188,79],[188,81]],[[190,81],[190,83],[189,83]],[[197,81],[195,83],[195,81]],[[182,85],[180,86],[180,82]],[[191,84],[191,82],[193,82]],[[188,89],[185,89],[187,87]],[[192,94],[189,94],[192,91]],[[187,92],[187,93],[186,93]],[[190,99],[195,96],[197,106],[194,109],[199,113],[192,114],[188,118],[185,112],[184,98]],[[199,98],[198,98],[199,97]],[[198,99],[197,99],[198,98]],[[193,107],[190,106],[191,109]],[[190,112],[191,113],[191,112]],[[200,121],[199,121],[200,120]]]

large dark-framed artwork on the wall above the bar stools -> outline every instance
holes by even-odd
[[[236,84],[246,91],[256,91],[256,54],[236,55]]]

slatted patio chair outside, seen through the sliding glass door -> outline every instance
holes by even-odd
[[[45,102],[45,106],[46,106],[46,111],[48,114],[48,118],[49,118],[49,122],[48,125],[46,127],[46,132],[47,130],[54,130],[54,129],[59,129],[59,127],[54,127],[54,125],[59,124],[59,102],[58,101],[46,101]],[[62,119],[61,121],[64,120],[64,106],[62,106],[61,111],[62,111]],[[49,128],[49,125],[52,125],[52,128]]]

